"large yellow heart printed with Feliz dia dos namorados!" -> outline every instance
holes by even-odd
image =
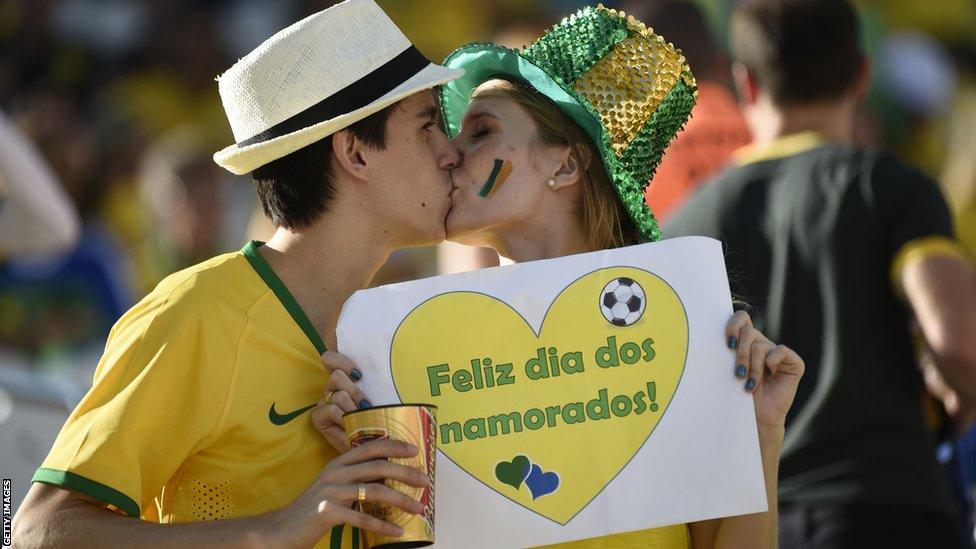
[[[608,267],[563,288],[538,332],[495,297],[434,296],[397,327],[390,368],[402,402],[438,407],[439,449],[451,461],[566,524],[651,437],[687,355],[687,315],[671,286]],[[526,471],[518,458],[527,456],[550,473]]]

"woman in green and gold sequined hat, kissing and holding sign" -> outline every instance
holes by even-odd
[[[449,239],[531,261],[660,238],[644,187],[694,104],[694,80],[673,46],[601,6],[521,52],[473,44],[445,64],[466,71],[442,91],[445,123],[463,157],[452,173]],[[557,547],[776,546],[779,453],[804,365],[743,312],[726,335],[737,355],[730,374],[754,395],[770,511]],[[326,360],[352,372],[341,357]],[[347,375],[333,377],[326,389],[333,401],[360,402]],[[326,415],[313,416],[324,425]]]

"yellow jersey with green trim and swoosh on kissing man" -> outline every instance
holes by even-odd
[[[35,482],[160,523],[265,513],[312,484],[337,455],[308,416],[325,345],[260,245],[169,276],[116,323]],[[358,546],[352,528],[317,545]]]

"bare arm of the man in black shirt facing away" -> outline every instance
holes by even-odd
[[[976,401],[976,273],[963,259],[935,255],[900,270],[900,282],[949,387]]]

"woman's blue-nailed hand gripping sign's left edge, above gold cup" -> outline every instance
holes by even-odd
[[[340,453],[349,450],[349,439],[342,415],[371,406],[366,395],[356,387],[363,373],[346,356],[333,351],[322,354],[322,364],[329,371],[322,398],[312,410],[312,424]]]

